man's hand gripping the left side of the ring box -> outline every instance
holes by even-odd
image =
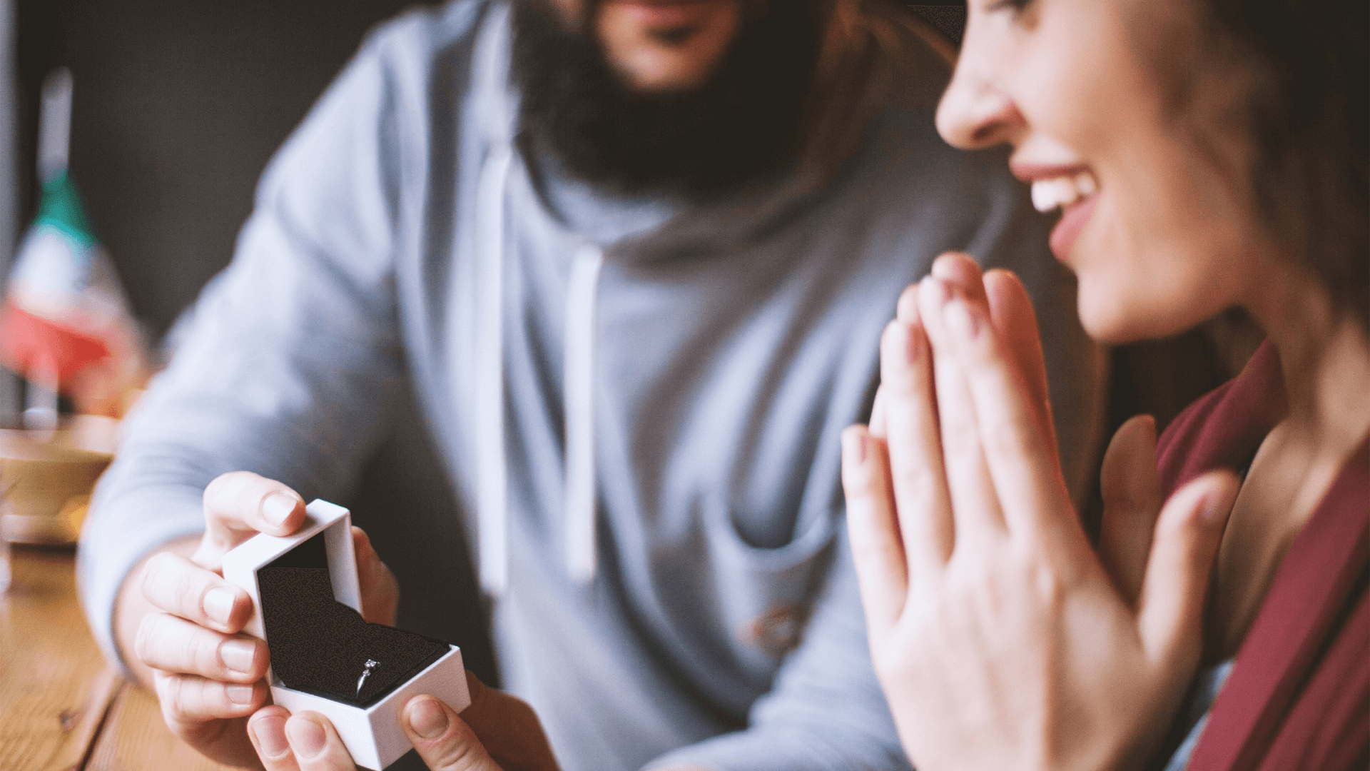
[[[121,597],[121,643],[147,667],[167,727],[221,763],[255,766],[248,716],[269,696],[266,643],[242,634],[252,616],[245,591],[223,580],[222,560],[258,532],[290,535],[304,521],[304,501],[289,487],[255,473],[215,479],[204,491],[206,532],[193,553],[153,554],[130,575]],[[352,528],[362,610],[367,621],[393,624],[399,584],[366,534]],[[127,597],[133,593],[134,597]],[[137,620],[136,637],[127,645]]]

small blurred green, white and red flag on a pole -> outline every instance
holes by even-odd
[[[25,424],[53,428],[58,392],[77,412],[122,417],[147,381],[147,355],[114,265],[71,176],[71,71],[42,85],[38,215],[10,273],[0,358],[27,380]]]

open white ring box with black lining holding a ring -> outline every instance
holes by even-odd
[[[271,654],[271,701],[337,728],[352,761],[385,768],[410,750],[404,704],[421,693],[460,712],[471,702],[462,652],[362,619],[347,509],[314,501],[293,535],[259,534],[223,556],[223,578],[252,597],[245,631]]]

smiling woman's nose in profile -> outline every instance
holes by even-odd
[[[1011,143],[1025,128],[1018,106],[966,54],[937,106],[937,133],[962,150]]]

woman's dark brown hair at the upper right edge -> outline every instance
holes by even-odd
[[[1370,332],[1370,3],[1199,3],[1204,26],[1256,69],[1248,129],[1259,214]]]

